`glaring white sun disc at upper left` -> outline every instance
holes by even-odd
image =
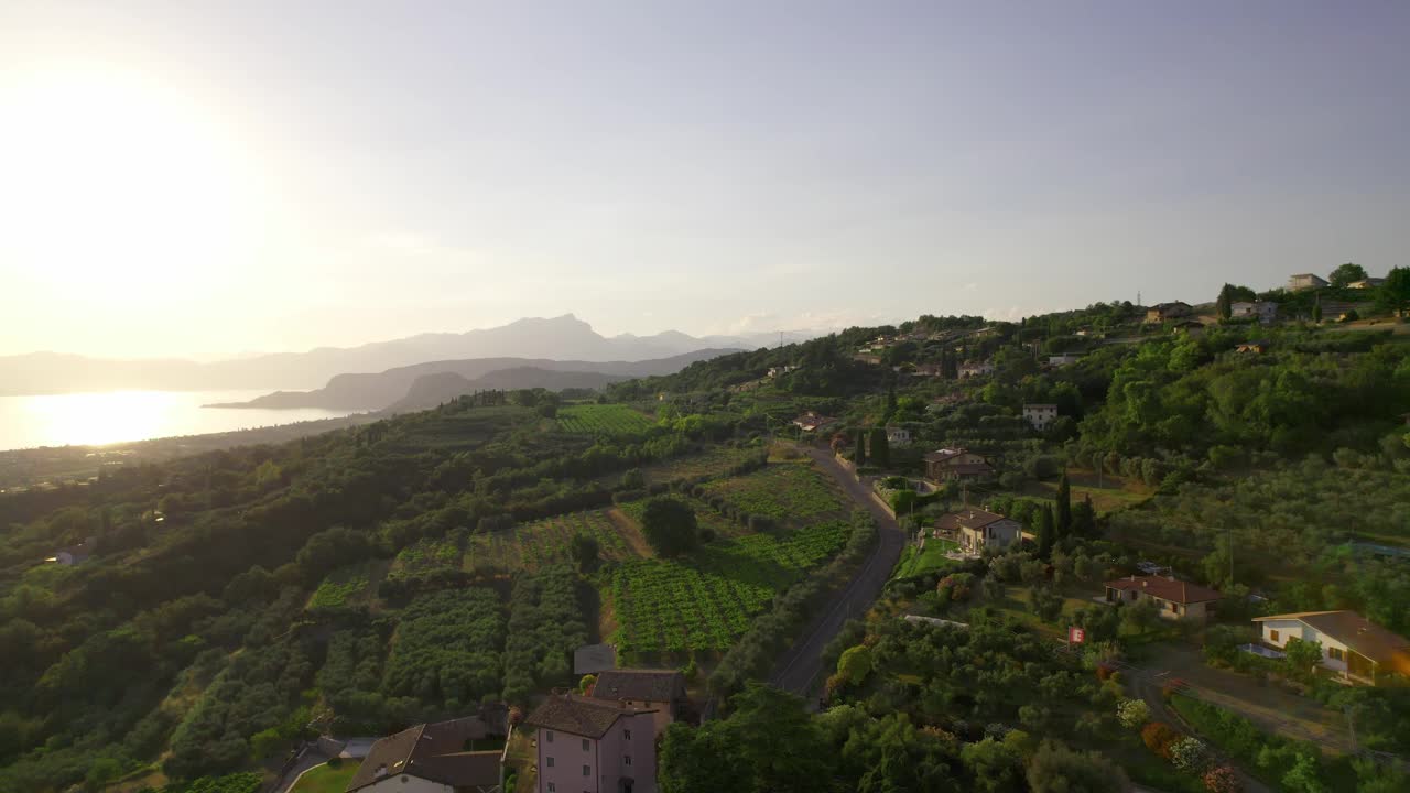
[[[0,264],[66,298],[159,301],[238,267],[250,169],[192,97],[111,65],[0,75]]]

